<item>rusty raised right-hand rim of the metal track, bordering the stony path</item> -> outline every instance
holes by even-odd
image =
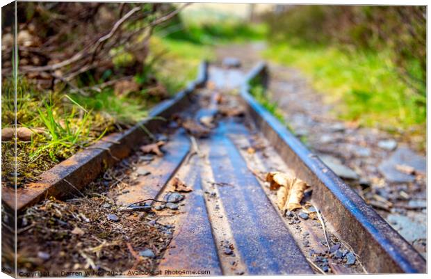
[[[248,114],[284,161],[291,163],[295,174],[314,186],[313,196],[318,197],[314,202],[334,221],[334,228],[352,245],[366,269],[373,273],[426,272],[423,257],[250,95],[250,81],[259,76],[268,77],[264,63],[254,67],[241,88]]]

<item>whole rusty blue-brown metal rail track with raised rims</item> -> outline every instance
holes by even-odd
[[[3,207],[24,212],[49,196],[75,196],[148,142],[140,129],[144,125],[152,137],[164,135],[163,156],[138,161],[129,176],[139,169],[147,173],[106,196],[130,209],[124,214],[142,210],[174,228],[163,253],[154,257],[154,270],[209,271],[206,275],[425,273],[423,257],[250,95],[251,81],[268,83],[264,63],[249,72],[202,63],[197,80],[154,108],[148,120],[107,136],[16,193],[3,188]],[[210,128],[178,124],[186,119],[206,119]],[[273,170],[309,184],[302,200],[306,214],[279,211],[276,193],[263,180]],[[188,190],[165,208],[157,200],[178,195],[174,180]],[[136,202],[138,207],[130,207]],[[15,222],[13,216],[10,222]]]

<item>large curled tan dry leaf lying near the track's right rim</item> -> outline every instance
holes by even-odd
[[[270,182],[270,189],[277,190],[277,205],[283,212],[301,208],[300,202],[304,197],[307,184],[299,178],[286,173],[270,172],[266,175]]]

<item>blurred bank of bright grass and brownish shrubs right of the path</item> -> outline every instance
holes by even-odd
[[[309,74],[340,101],[343,118],[424,125],[426,7],[286,6],[264,21],[266,57]]]

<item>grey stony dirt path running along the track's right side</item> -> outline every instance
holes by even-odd
[[[217,50],[249,68],[263,60],[261,43]],[[426,160],[415,138],[337,120],[333,106],[300,70],[269,63],[268,95],[288,128],[350,184],[426,258]]]

